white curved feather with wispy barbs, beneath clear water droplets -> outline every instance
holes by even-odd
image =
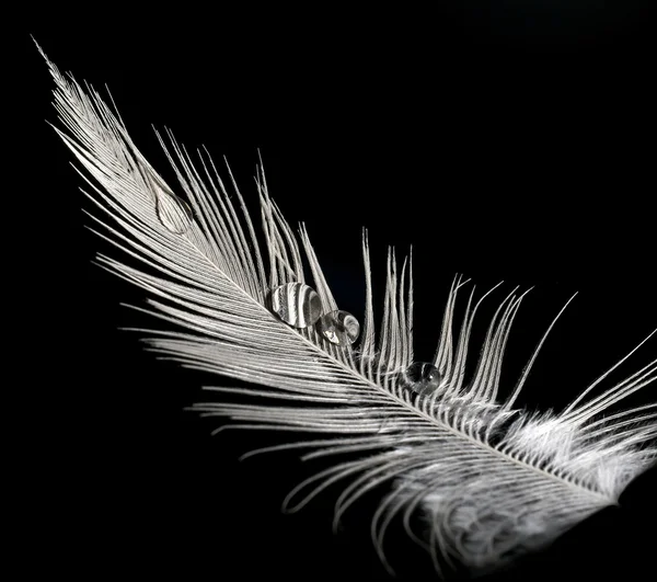
[[[334,345],[314,327],[286,324],[269,309],[269,294],[279,285],[311,284],[325,313],[338,306],[306,228],[295,235],[269,197],[262,169],[256,180],[260,235],[230,170],[234,197],[207,152],[199,152],[195,166],[171,134],[169,146],[158,134],[178,182],[170,186],[97,93],[48,65],[64,125],[56,130],[92,179],[85,178],[85,194],[111,219],[94,218],[103,227],[99,233],[143,269],[110,256],[99,260],[148,290],[150,312],[180,329],[159,332],[152,349],[184,366],[261,385],[210,388],[246,398],[200,403],[195,410],[228,416],[239,427],[325,433],[261,452],[308,448],[307,457],[362,453],[300,483],[286,499],[290,511],[346,480],[336,503],[337,523],[361,495],[390,482],[371,524],[381,558],[385,532],[401,517],[437,569],[458,561],[476,571],[539,548],[615,504],[625,486],[655,461],[657,404],[603,413],[654,381],[657,360],[595,392],[627,354],[563,412],[530,414],[514,404],[549,329],[511,396],[498,401],[506,344],[525,297],[516,289],[497,308],[483,345],[476,346],[475,372],[466,377],[473,321],[488,294],[476,299],[470,293],[459,324],[454,309],[466,282],[454,279],[433,362],[440,384],[431,393],[416,393],[404,381],[414,362],[411,259],[400,269],[389,252],[383,317],[376,329],[367,235],[359,343]],[[258,403],[261,397],[280,403]],[[428,537],[412,530],[415,512],[429,526]]]

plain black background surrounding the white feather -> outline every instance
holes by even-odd
[[[30,34],[60,69],[108,85],[165,176],[151,124],[217,160],[226,155],[254,203],[260,149],[270,193],[291,222],[306,221],[338,303],[354,313],[364,298],[360,228],[379,273],[387,244],[413,244],[422,357],[434,351],[457,272],[482,290],[502,279],[507,290],[535,286],[509,342],[508,385],[579,292],[527,386],[523,403],[544,410],[656,326],[655,47],[652,14],[638,2],[530,4],[424,13],[180,5],[35,19],[18,48],[32,164],[18,204],[36,215],[38,247],[21,267],[39,322],[24,327],[26,341],[36,338],[43,364],[21,367],[27,410],[48,416],[31,431],[42,455],[28,465],[35,498],[54,511],[28,520],[26,535],[57,548],[49,568],[87,579],[389,578],[369,541],[377,493],[337,535],[336,490],[281,514],[285,494],[322,465],[295,454],[240,463],[285,435],[210,437],[219,421],[184,408],[207,398],[203,385],[231,381],[157,362],[138,335],[117,329],[153,323],[119,306],[142,305],[140,290],[91,263],[111,248],[84,228],[81,181],[44,122],[56,118],[53,82]],[[654,386],[644,392],[632,402],[654,400]],[[622,509],[498,578],[650,578],[654,487],[652,471],[630,486]],[[389,556],[401,580],[434,577],[400,532]]]

